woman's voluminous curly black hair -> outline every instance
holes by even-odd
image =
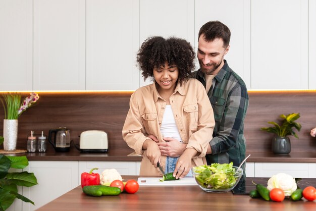
[[[153,69],[159,68],[168,62],[179,69],[178,82],[180,85],[187,80],[195,68],[195,53],[184,39],[161,36],[148,37],[141,45],[137,54],[138,67],[142,71],[144,81],[153,78]]]

